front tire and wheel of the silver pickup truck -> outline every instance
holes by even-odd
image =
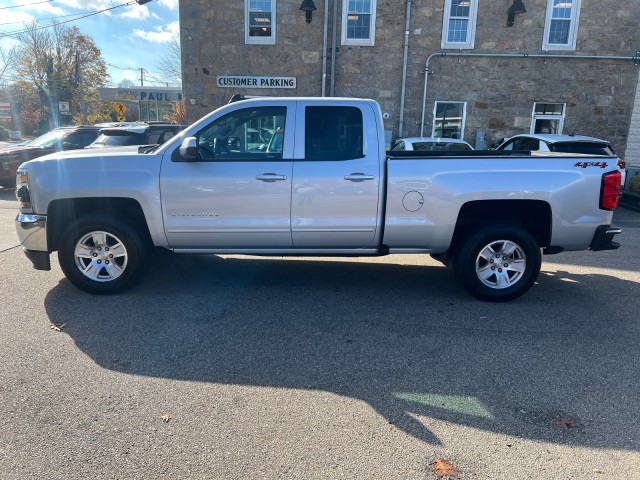
[[[63,234],[58,261],[65,276],[88,293],[109,295],[133,287],[152,250],[146,237],[115,217],[78,219]]]

